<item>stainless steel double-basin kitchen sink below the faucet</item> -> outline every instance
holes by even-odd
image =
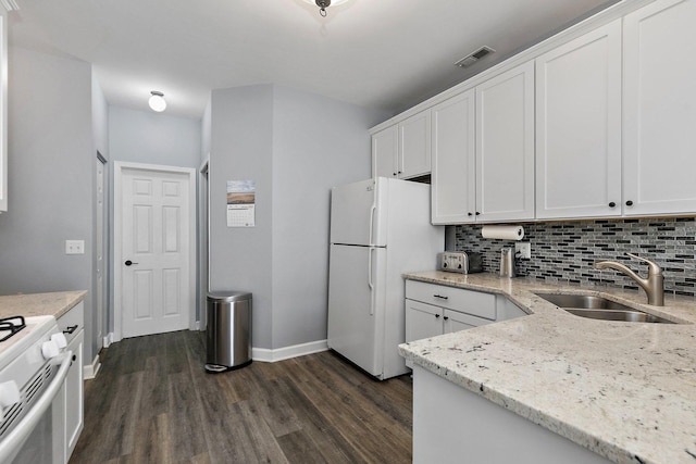
[[[561,310],[581,317],[601,321],[674,324],[663,317],[593,294],[536,293],[536,296],[556,304]]]

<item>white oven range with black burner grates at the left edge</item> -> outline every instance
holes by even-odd
[[[53,317],[28,317],[17,335],[0,342],[0,463],[64,464],[72,353]]]

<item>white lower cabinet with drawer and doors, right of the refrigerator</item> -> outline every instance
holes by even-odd
[[[525,315],[501,294],[406,280],[406,341]],[[413,367],[407,360],[406,365]]]

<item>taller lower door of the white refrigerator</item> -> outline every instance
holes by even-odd
[[[331,246],[328,348],[382,378],[384,248]]]

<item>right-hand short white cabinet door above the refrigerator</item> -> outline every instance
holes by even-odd
[[[430,174],[431,172],[431,110],[399,123],[400,178]]]

